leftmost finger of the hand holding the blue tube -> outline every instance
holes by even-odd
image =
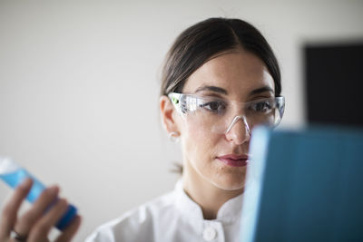
[[[17,211],[22,205],[22,202],[26,198],[29,190],[32,188],[32,184],[32,179],[25,179],[15,189],[13,196],[5,204],[0,219],[0,238],[9,237],[16,222]]]

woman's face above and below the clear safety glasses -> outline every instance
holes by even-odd
[[[182,92],[240,103],[274,97],[274,82],[260,58],[238,49],[218,54],[204,63],[191,74]],[[244,115],[242,108],[234,107],[232,116],[221,119],[231,119],[227,121],[231,123],[237,115]],[[225,190],[243,189],[249,129],[253,127],[247,128],[240,119],[231,131],[223,133],[212,131],[215,127],[203,127],[212,124],[203,125],[206,122],[188,116],[178,114],[175,120],[181,133],[184,172],[188,172],[194,182],[209,182]]]

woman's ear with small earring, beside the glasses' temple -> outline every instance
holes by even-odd
[[[178,129],[178,125],[175,121],[175,109],[172,105],[170,99],[163,95],[160,97],[160,111],[162,124],[164,126],[165,131],[170,132],[180,132]]]

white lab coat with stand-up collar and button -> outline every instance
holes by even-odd
[[[206,220],[201,207],[186,195],[182,181],[162,197],[98,227],[86,242],[237,242],[242,195],[222,205],[217,218]]]

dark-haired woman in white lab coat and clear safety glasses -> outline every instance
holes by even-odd
[[[238,241],[250,131],[279,124],[280,92],[277,60],[250,24],[211,18],[182,32],[167,55],[160,98],[165,130],[182,143],[182,179],[171,193],[99,227],[86,241]],[[9,210],[3,218],[17,208]],[[31,238],[48,231],[23,229],[21,220],[5,223],[1,238],[14,229],[29,235],[27,241],[43,241]],[[79,218],[60,241],[78,224]]]

